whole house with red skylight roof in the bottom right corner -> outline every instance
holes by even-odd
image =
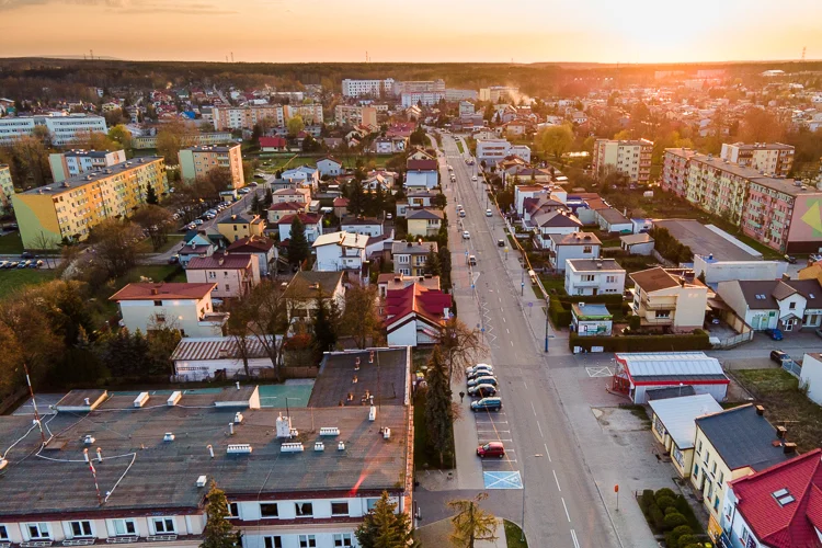
[[[733,548],[822,547],[822,449],[731,481],[721,527]]]

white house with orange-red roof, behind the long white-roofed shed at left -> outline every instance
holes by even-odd
[[[216,283],[128,284],[111,297],[119,306],[123,327],[132,332],[171,328],[183,336],[220,336],[228,315],[215,312]]]

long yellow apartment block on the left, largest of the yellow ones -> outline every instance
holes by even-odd
[[[12,204],[23,247],[54,247],[64,238],[84,240],[102,220],[126,217],[145,204],[148,186],[158,195],[169,190],[161,157],[135,158],[14,194]]]

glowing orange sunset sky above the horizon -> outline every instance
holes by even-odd
[[[822,0],[0,0],[0,57],[822,59]]]

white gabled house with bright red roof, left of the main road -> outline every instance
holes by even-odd
[[[386,292],[384,316],[388,344],[416,346],[435,344],[450,317],[452,296],[422,284]]]

